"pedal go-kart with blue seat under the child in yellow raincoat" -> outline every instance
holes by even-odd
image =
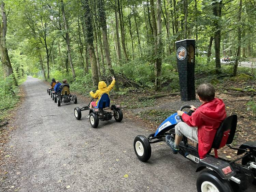
[[[90,103],[94,101],[94,98],[90,101]],[[81,111],[83,110],[89,110],[89,119],[90,119],[90,124],[91,127],[97,128],[99,125],[99,120],[101,121],[108,121],[112,119],[112,117],[115,118],[117,122],[121,122],[123,119],[123,112],[120,109],[120,105],[111,105],[110,107],[110,99],[109,95],[107,93],[104,93],[101,95],[100,100],[98,101],[97,107],[95,108],[90,108],[90,103],[82,108],[75,107],[74,108],[74,114],[75,118],[77,120],[80,120],[82,117]],[[106,110],[112,110],[111,111],[106,111]]]

